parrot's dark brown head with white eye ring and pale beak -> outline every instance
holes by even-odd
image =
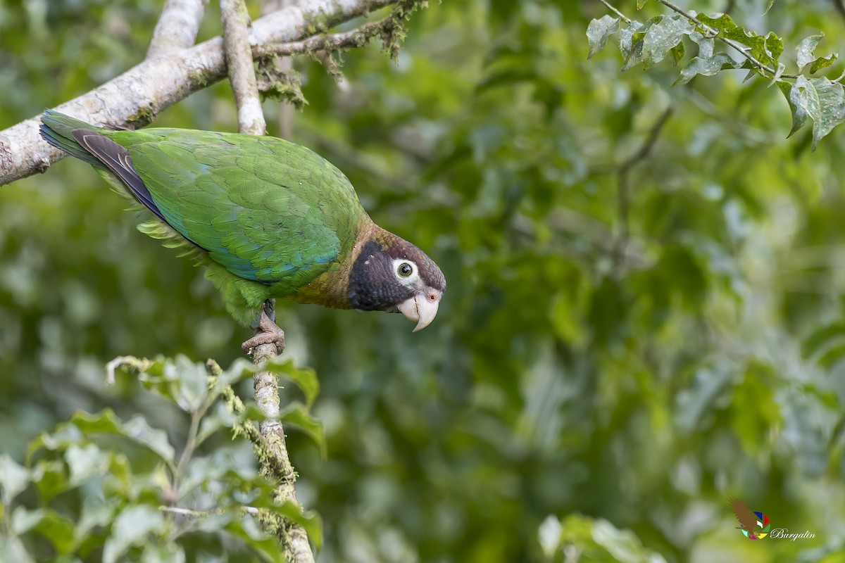
[[[352,265],[346,296],[359,311],[401,312],[418,330],[437,315],[446,279],[417,246],[390,235],[371,238]]]

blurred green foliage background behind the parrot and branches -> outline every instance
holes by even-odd
[[[664,13],[652,4],[617,5],[645,21]],[[835,4],[684,8],[729,8],[787,50],[823,31],[836,51]],[[160,11],[0,1],[0,128],[137,64]],[[378,44],[346,53],[341,86],[297,58],[293,140],[449,284],[422,333],[279,304],[286,355],[321,384],[328,458],[288,439],[300,500],[324,520],[320,561],[845,561],[845,133],[815,153],[809,127],[785,138],[782,94],[744,71],[670,89],[669,62],[586,61],[586,25],[606,13],[433,2],[397,62]],[[217,19],[212,5],[200,39]],[[279,104],[265,113],[276,134]],[[621,166],[664,116],[646,158]],[[234,131],[231,92],[155,125]],[[241,355],[248,334],[202,271],[123,207],[78,161],[0,187],[0,449],[20,462],[77,409],[183,440],[173,409],[106,387],[117,355]],[[815,538],[750,542],[729,495]]]

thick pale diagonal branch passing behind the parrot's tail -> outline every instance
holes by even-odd
[[[250,30],[253,46],[301,41],[315,30],[331,27],[395,0],[307,0],[256,19]],[[316,25],[319,24],[319,25]],[[191,49],[147,59],[90,92],[57,106],[90,122],[142,127],[162,110],[226,75],[220,37]],[[43,172],[63,153],[41,140],[40,116],[0,132],[0,185]]]

